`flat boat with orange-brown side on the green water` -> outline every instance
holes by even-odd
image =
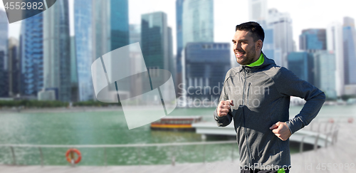
[[[201,122],[201,116],[166,116],[151,123],[152,130],[194,131],[192,123]]]

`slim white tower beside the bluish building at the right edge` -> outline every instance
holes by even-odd
[[[333,51],[335,54],[335,89],[337,96],[344,95],[344,53],[342,46],[342,25],[338,22],[333,22],[328,25],[327,31],[327,47],[328,51]]]

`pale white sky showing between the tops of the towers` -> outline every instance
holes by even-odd
[[[1,0],[0,0],[1,1]],[[61,1],[61,0],[58,0]],[[73,4],[74,0],[69,0]],[[174,50],[176,44],[176,0],[129,0],[130,23],[140,24],[141,14],[164,11],[168,25],[173,28]],[[2,1],[1,1],[2,2]],[[275,8],[280,12],[290,13],[293,19],[293,39],[297,43],[298,36],[305,28],[326,28],[332,21],[342,23],[344,16],[356,18],[355,6],[350,0],[268,0],[268,9]],[[4,9],[1,3],[0,8]],[[73,10],[73,5],[70,5]],[[71,26],[73,26],[73,13]],[[231,42],[236,24],[248,21],[246,0],[214,0],[214,41]],[[9,24],[9,36],[18,37],[21,22]],[[73,35],[73,27],[71,28]],[[174,51],[175,54],[175,51]]]

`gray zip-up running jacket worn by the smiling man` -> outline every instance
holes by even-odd
[[[262,65],[240,65],[226,73],[219,102],[233,100],[234,106],[223,117],[215,110],[214,119],[221,127],[234,120],[241,167],[289,167],[289,139],[279,139],[269,127],[276,122],[286,122],[292,134],[300,130],[318,114],[325,94],[290,70],[264,58]],[[306,100],[303,109],[291,120],[290,96]]]

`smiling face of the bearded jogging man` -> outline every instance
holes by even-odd
[[[248,31],[237,30],[232,42],[234,43],[233,51],[237,63],[248,65],[257,61],[260,57],[262,41],[253,41],[253,37]]]

